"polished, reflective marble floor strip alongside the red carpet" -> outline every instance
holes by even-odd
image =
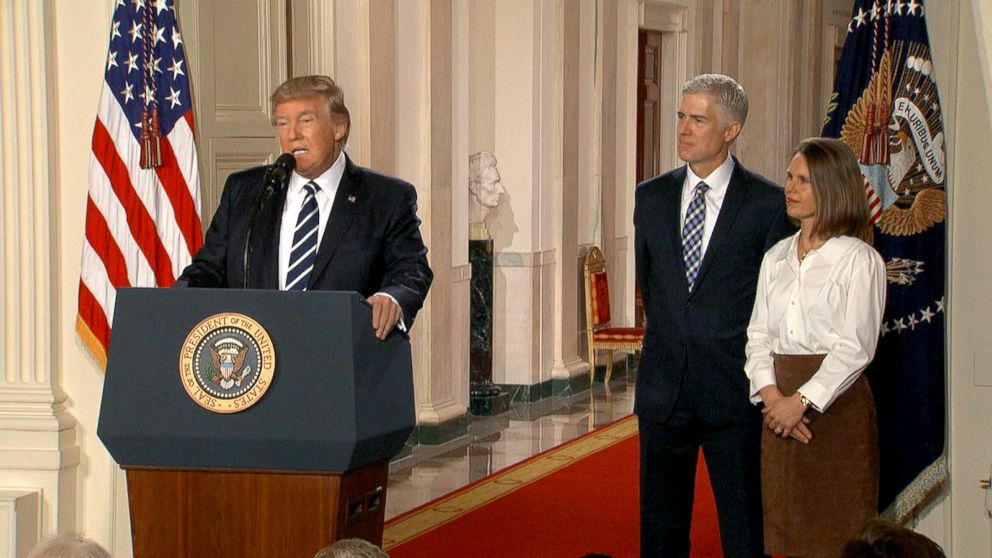
[[[620,365],[622,367],[622,365]],[[474,417],[468,435],[416,446],[389,465],[386,520],[630,414],[634,374],[604,388],[515,404],[494,417]]]

